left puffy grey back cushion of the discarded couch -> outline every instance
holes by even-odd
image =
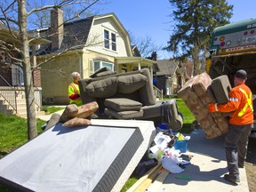
[[[92,98],[108,98],[116,94],[117,77],[108,77],[94,81],[85,87],[85,92]]]

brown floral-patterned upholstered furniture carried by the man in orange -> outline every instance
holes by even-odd
[[[194,76],[178,92],[178,95],[196,117],[205,136],[212,139],[228,131],[228,119],[219,112],[210,113],[208,103],[215,102],[210,85],[212,79],[206,73]]]

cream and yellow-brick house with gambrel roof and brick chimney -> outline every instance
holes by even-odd
[[[44,104],[68,104],[68,84],[74,71],[88,78],[102,67],[117,73],[150,68],[153,75],[156,60],[140,57],[114,13],[62,24],[62,11],[55,9],[51,22],[51,28],[36,31],[38,36],[54,35],[52,44],[37,50],[37,63],[55,57],[40,65]]]

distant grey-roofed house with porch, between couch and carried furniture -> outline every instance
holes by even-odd
[[[157,60],[157,66],[154,83],[164,96],[176,94],[188,80],[187,69],[178,60]]]

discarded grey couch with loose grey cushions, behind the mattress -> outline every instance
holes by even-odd
[[[96,101],[99,118],[151,120],[180,130],[183,124],[175,100],[157,101],[148,68],[116,74],[100,68],[78,82],[83,103]]]

